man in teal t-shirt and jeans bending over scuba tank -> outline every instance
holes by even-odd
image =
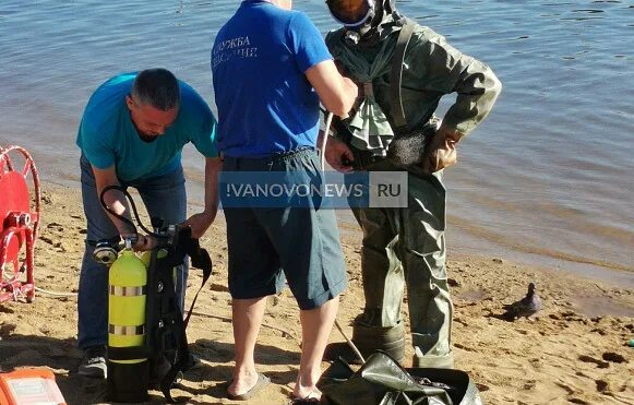
[[[86,251],[79,289],[79,346],[84,357],[80,374],[104,378],[108,336],[108,270],[93,259],[95,242],[119,240],[135,230],[106,213],[99,202],[108,186],[135,188],[151,217],[167,224],[186,223],[200,238],[218,209],[217,174],[220,167],[215,143],[216,120],[207,104],[187,83],[165,69],[119,74],[91,96],[84,110],[76,144],[82,198],[87,221]],[[181,151],[193,143],[205,156],[205,209],[186,221],[187,195]],[[104,200],[117,214],[130,219],[122,193],[106,192]],[[136,250],[156,245],[137,235]],[[177,297],[184,302],[187,263],[177,271]]]

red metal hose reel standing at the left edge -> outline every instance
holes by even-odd
[[[16,170],[12,155],[22,155]],[[31,182],[34,196],[29,194]],[[0,146],[0,302],[35,298],[33,248],[39,225],[39,178],[28,152],[21,146]],[[24,247],[24,251],[22,248]],[[26,282],[23,273],[26,272]]]

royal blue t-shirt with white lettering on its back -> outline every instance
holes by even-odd
[[[330,59],[306,14],[243,1],[212,49],[219,150],[263,157],[314,147],[320,102],[304,72]]]

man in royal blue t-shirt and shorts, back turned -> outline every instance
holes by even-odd
[[[316,27],[290,9],[290,0],[242,1],[214,43],[223,184],[236,171],[279,172],[280,178],[321,183],[315,151],[320,100],[347,116],[357,97],[357,86],[338,73]],[[253,352],[266,297],[286,279],[302,326],[292,396],[314,401],[338,295],[347,286],[334,212],[291,204],[263,209],[253,200],[247,200],[250,207],[237,207],[225,193],[222,199],[236,342],[228,396],[247,400],[270,381],[256,372]]]

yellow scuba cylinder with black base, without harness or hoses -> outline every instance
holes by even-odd
[[[145,343],[147,269],[132,251],[132,241],[110,266],[108,275],[108,347],[140,347]],[[147,357],[108,359],[108,400],[145,402],[149,364]]]

